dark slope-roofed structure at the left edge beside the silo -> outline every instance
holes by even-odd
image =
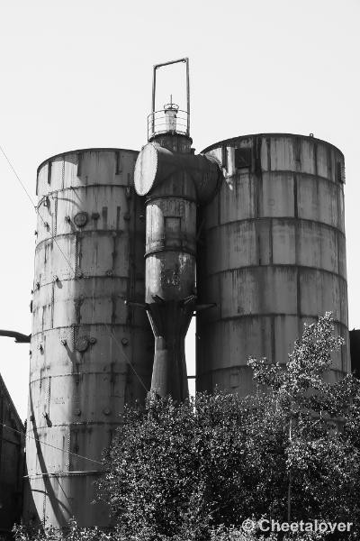
[[[0,375],[0,536],[21,519],[24,444],[25,428]]]

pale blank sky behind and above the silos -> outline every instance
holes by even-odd
[[[36,169],[53,154],[139,150],[153,64],[188,56],[197,151],[285,132],[344,152],[349,326],[360,327],[359,28],[360,0],[0,0],[0,144],[33,198]],[[165,101],[184,95],[179,75],[162,74]],[[0,328],[30,334],[35,213],[1,155],[0,179]],[[22,418],[28,350],[0,338],[0,372]]]

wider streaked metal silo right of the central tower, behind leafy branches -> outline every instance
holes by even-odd
[[[246,135],[204,151],[226,173],[202,209],[197,390],[252,392],[247,358],[287,362],[304,322],[332,311],[346,340],[329,381],[349,371],[344,156],[314,137]]]

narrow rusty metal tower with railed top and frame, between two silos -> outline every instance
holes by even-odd
[[[157,69],[185,62],[187,111],[155,111]],[[195,156],[190,137],[188,59],[154,66],[148,144],[135,166],[135,189],[146,196],[145,305],[155,336],[151,390],[182,400],[188,395],[184,338],[196,305],[196,208],[216,192],[220,165]]]

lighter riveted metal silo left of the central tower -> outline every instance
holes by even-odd
[[[107,526],[91,505],[124,403],[150,388],[137,151],[70,151],[38,170],[25,519]],[[85,457],[85,458],[84,458]],[[90,459],[90,460],[89,460]]]

